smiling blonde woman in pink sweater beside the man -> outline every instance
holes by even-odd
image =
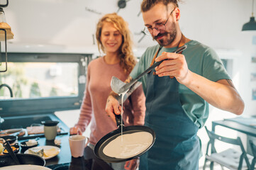
[[[115,76],[125,81],[135,66],[130,31],[121,16],[116,13],[103,16],[97,24],[96,39],[99,51],[104,52],[104,55],[89,63],[87,86],[79,120],[74,128],[70,129],[70,134],[82,134],[91,123],[89,147],[92,149],[101,137],[116,130],[116,123],[108,117],[105,111],[106,99],[111,92],[111,77]],[[142,86],[133,91],[123,106],[125,125],[144,124],[145,96]],[[125,163],[110,165],[113,169],[120,170],[124,169]],[[126,162],[126,165],[130,165],[128,169],[134,169],[135,160]]]

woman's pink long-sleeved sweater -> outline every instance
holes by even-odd
[[[106,99],[111,92],[112,76],[125,81],[128,75],[123,73],[119,64],[106,64],[104,57],[99,57],[89,63],[87,70],[87,85],[77,126],[84,130],[91,122],[89,142],[96,145],[101,137],[116,130],[116,123],[106,115]],[[143,125],[145,118],[145,96],[140,85],[138,89],[123,103],[123,121],[125,126]]]

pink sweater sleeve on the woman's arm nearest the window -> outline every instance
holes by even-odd
[[[84,132],[89,125],[91,121],[91,113],[92,113],[92,108],[91,108],[91,96],[89,94],[89,81],[90,81],[90,67],[87,69],[87,84],[86,84],[86,89],[84,91],[84,98],[83,102],[80,108],[80,115],[79,115],[79,120],[76,124],[78,128]]]

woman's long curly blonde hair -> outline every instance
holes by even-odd
[[[101,43],[101,30],[104,23],[113,23],[113,26],[121,33],[123,42],[120,46],[120,65],[123,68],[123,71],[126,74],[130,74],[135,66],[136,60],[133,55],[132,45],[133,42],[130,38],[130,30],[128,24],[123,20],[121,16],[118,16],[116,13],[108,13],[103,16],[97,23],[96,28],[96,40],[98,43],[99,52],[105,52],[104,46]]]

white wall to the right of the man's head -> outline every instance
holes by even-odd
[[[185,35],[213,47],[217,52],[236,52],[233,81],[245,101],[244,114],[255,115],[256,101],[252,101],[253,84],[250,82],[250,72],[256,70],[252,68],[255,65],[250,60],[252,55],[256,54],[256,44],[252,45],[256,31],[241,31],[243,24],[247,23],[251,16],[252,1],[186,0],[180,7],[181,28]]]

